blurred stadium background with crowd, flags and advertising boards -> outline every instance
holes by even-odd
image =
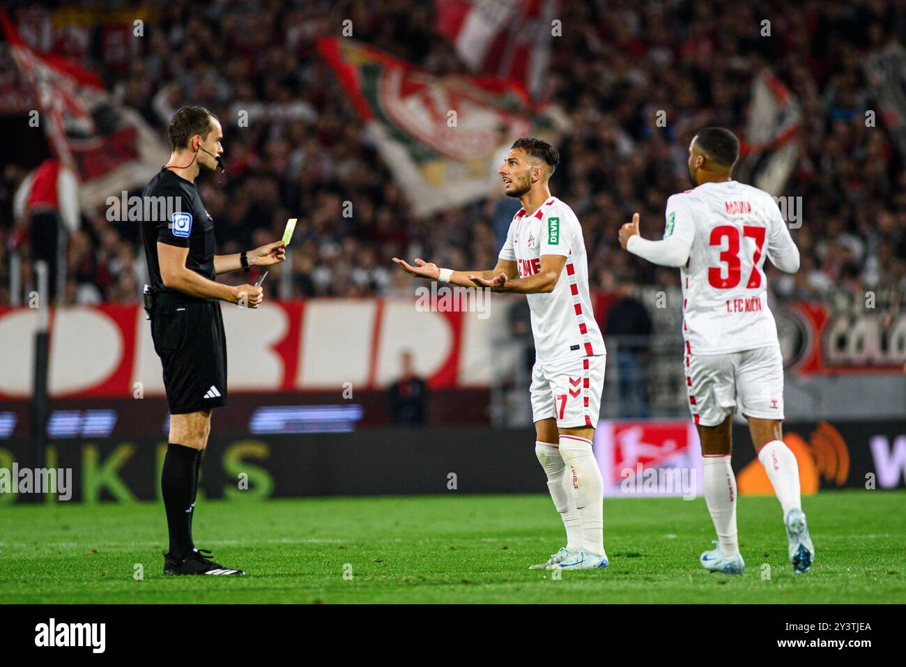
[[[171,113],[197,103],[226,134],[223,185],[199,181],[217,252],[271,241],[299,218],[265,308],[225,307],[231,397],[214,416],[209,497],[236,496],[241,471],[260,497],[442,494],[450,471],[466,492],[543,490],[525,301],[422,312],[418,285],[390,263],[494,266],[518,205],[499,196],[492,167],[528,131],[559,146],[551,188],[585,231],[609,351],[596,442],[609,490],[638,464],[696,467],[677,272],[622,252],[616,231],[638,210],[643,234],[660,234],[666,198],[688,188],[689,140],[707,124],[746,141],[739,178],[771,184],[802,253],[798,274],[767,275],[806,492],[906,484],[901,5],[538,0],[504,21],[505,6],[8,4],[0,467],[34,443],[34,332],[50,303],[48,465],[74,469],[76,498],[155,497],[168,414],[140,308],[147,274],[137,225],[111,218],[126,218],[120,194],[138,194],[166,160]],[[490,27],[466,34],[479,11]],[[484,62],[472,61],[476,43]],[[46,66],[56,78],[35,78]],[[49,297],[30,307],[46,255],[32,218],[48,211],[35,183],[58,193],[61,247],[44,256]],[[406,351],[426,382],[424,423],[394,423],[391,393],[397,421],[420,421],[395,384]],[[741,492],[769,493],[744,427],[736,435]]]

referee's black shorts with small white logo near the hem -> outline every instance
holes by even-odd
[[[219,302],[159,293],[151,340],[164,369],[170,414],[226,405],[226,333]]]

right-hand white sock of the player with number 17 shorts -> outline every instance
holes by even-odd
[[[604,482],[594,459],[592,441],[572,435],[560,436],[560,456],[566,469],[564,482],[575,498],[582,520],[582,547],[604,555]]]

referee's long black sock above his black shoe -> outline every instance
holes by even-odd
[[[192,515],[198,492],[201,450],[170,442],[160,474],[160,491],[164,498],[169,529],[169,553],[184,558],[195,548],[192,542]]]

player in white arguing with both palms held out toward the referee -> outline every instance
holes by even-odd
[[[535,455],[566,528],[566,546],[533,569],[608,565],[603,546],[603,483],[592,441],[604,384],[604,342],[594,320],[582,227],[573,209],[552,197],[548,179],[560,156],[543,140],[513,144],[498,173],[522,207],[490,271],[454,271],[422,259],[411,275],[464,287],[526,295],[532,312],[535,367],[529,389]]]

